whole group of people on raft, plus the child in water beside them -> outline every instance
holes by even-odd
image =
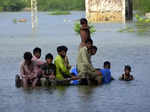
[[[91,57],[96,54],[97,47],[93,45],[88,21],[85,18],[81,18],[80,24],[81,43],[76,67],[71,69],[67,57],[68,48],[64,45],[57,47],[58,55],[55,57],[54,63],[51,53],[45,56],[45,61],[40,60],[41,49],[36,47],[33,50],[33,55],[31,52],[24,53],[24,61],[20,68],[23,87],[27,88],[29,83],[31,83],[34,88],[41,78],[45,78],[48,81],[69,80],[73,85],[90,84],[93,82],[95,84],[102,84],[113,80],[110,71],[111,63],[109,61],[104,62],[103,69],[93,67]],[[124,72],[119,78],[120,80],[129,81],[134,79],[130,75],[131,67],[129,65],[125,66]]]

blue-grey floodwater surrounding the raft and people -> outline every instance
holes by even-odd
[[[150,111],[150,34],[121,33],[125,24],[95,24],[92,35],[98,47],[93,65],[101,68],[103,62],[112,63],[113,82],[102,86],[69,86],[24,90],[15,87],[15,75],[25,51],[42,49],[42,59],[51,52],[57,55],[58,45],[69,49],[70,64],[76,65],[79,35],[74,22],[84,12],[72,15],[50,16],[39,13],[36,33],[32,33],[28,12],[0,13],[0,110],[1,112],[149,112]],[[26,23],[13,22],[26,18]],[[132,67],[134,81],[119,81],[124,65]]]

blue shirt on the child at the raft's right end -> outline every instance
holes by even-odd
[[[103,76],[103,83],[109,83],[111,81],[110,69],[101,69],[100,72]]]

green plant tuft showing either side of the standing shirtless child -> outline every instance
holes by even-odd
[[[95,29],[94,25],[89,24],[89,27],[90,27],[90,33],[94,34],[96,32],[96,29]],[[79,21],[75,22],[75,24],[74,24],[74,31],[78,35],[80,34],[80,22]]]

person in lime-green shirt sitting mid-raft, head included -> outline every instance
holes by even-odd
[[[66,66],[66,55],[67,55],[67,47],[59,46],[57,47],[58,55],[55,58],[54,64],[56,65],[56,79],[64,80],[65,78],[70,78],[70,68]]]

